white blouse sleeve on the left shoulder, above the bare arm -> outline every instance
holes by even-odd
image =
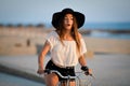
[[[46,41],[48,41],[51,45],[51,49],[53,48],[54,46],[54,43],[55,43],[55,37],[54,37],[54,32],[50,32],[47,37],[46,37]]]

